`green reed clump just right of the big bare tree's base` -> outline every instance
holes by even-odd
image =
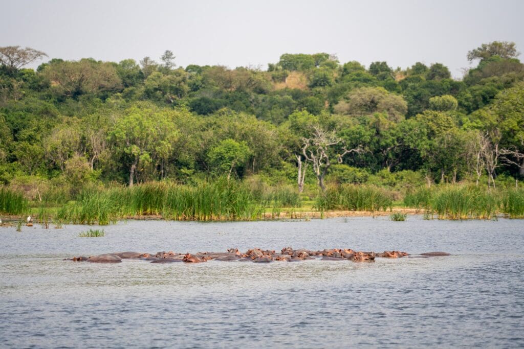
[[[392,196],[376,186],[352,184],[330,187],[319,195],[315,207],[319,210],[380,211],[391,208]]]

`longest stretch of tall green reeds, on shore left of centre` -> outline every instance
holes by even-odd
[[[236,181],[219,179],[192,186],[146,183],[85,192],[59,209],[57,218],[80,224],[108,224],[122,217],[161,215],[176,220],[251,220],[264,206]]]

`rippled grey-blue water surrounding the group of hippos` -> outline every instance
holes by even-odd
[[[0,229],[0,347],[524,346],[522,220],[129,221]],[[118,251],[446,251],[375,263],[92,264]]]

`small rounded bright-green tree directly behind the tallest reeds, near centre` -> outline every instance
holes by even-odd
[[[208,153],[211,165],[218,173],[227,173],[227,179],[231,177],[233,170],[244,164],[251,155],[251,150],[246,142],[237,142],[231,138],[220,141]]]

